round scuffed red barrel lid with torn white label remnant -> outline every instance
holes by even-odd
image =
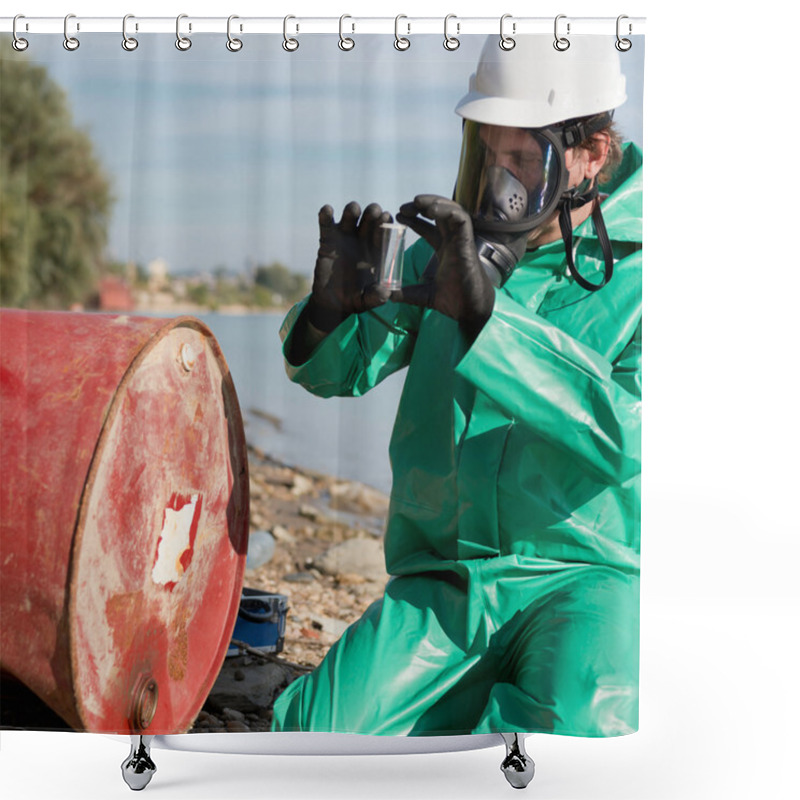
[[[115,393],[73,543],[69,626],[86,729],[186,730],[222,665],[247,552],[247,454],[225,359],[165,323]]]

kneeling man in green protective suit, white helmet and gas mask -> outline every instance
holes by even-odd
[[[611,123],[619,56],[583,39],[487,43],[454,198],[398,215],[421,236],[402,289],[371,277],[388,214],[320,212],[287,370],[328,397],[407,368],[392,578],[278,698],[275,730],[638,727],[641,154]]]

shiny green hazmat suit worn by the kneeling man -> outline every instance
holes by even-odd
[[[274,708],[276,731],[382,735],[638,727],[641,153],[626,145],[603,217],[602,290],[529,251],[469,346],[438,312],[345,319],[292,380],[360,395],[407,367],[392,434],[392,576]],[[575,261],[599,282],[591,219]],[[415,243],[406,280],[431,249]],[[283,329],[288,352],[303,303]]]

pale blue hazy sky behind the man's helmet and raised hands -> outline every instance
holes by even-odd
[[[622,54],[629,99],[618,112],[640,145],[643,39]],[[224,34],[186,52],[174,35],[149,34],[126,52],[119,35],[91,34],[67,52],[44,34],[27,57],[65,89],[111,177],[112,259],[163,259],[173,274],[280,261],[310,275],[323,204],[395,213],[416,194],[452,193],[454,108],[485,36],[461,40],[448,52],[441,36],[418,35],[398,52],[392,36],[360,35],[342,53],[335,35],[309,34],[290,54],[266,34],[230,53]]]

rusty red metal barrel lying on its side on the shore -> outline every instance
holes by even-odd
[[[225,657],[247,453],[198,320],[0,313],[0,666],[76,729],[186,730]]]

